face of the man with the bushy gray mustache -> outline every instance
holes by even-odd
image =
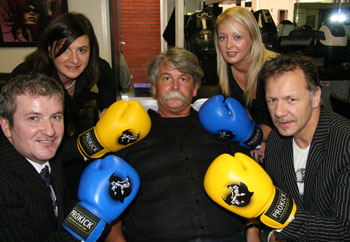
[[[189,115],[192,97],[197,95],[198,83],[194,84],[189,74],[175,69],[172,64],[159,66],[157,85],[152,86],[159,113],[162,117],[184,117]]]

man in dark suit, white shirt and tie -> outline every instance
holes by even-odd
[[[2,89],[0,241],[75,241],[61,226],[74,205],[56,155],[63,102],[63,88],[40,74],[19,75]],[[46,166],[49,185],[39,174]]]

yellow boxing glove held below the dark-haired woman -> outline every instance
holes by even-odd
[[[142,140],[150,129],[151,119],[140,103],[116,101],[95,127],[79,135],[78,149],[86,158],[100,158]]]

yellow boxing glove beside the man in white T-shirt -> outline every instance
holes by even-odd
[[[222,154],[209,166],[204,189],[220,206],[245,218],[257,218],[275,229],[294,218],[296,205],[275,187],[264,169],[249,156]]]

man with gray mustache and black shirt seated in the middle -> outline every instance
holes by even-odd
[[[244,241],[244,219],[219,208],[203,189],[204,174],[218,155],[248,151],[201,126],[191,102],[202,76],[197,57],[182,48],[149,64],[158,104],[158,111],[148,110],[151,131],[117,153],[137,170],[141,187],[106,241]]]

